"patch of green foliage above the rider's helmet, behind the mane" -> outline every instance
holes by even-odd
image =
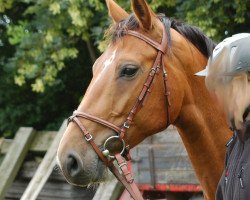
[[[242,31],[249,32],[249,0],[189,0],[179,2],[177,17],[201,28],[209,37],[220,41]]]

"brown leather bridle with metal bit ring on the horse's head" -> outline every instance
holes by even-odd
[[[150,69],[150,72],[148,74],[148,77],[143,85],[143,88],[133,106],[131,109],[130,113],[128,114],[127,119],[125,120],[124,124],[121,127],[118,127],[106,120],[100,119],[96,116],[92,116],[88,113],[85,112],[80,112],[80,111],[74,111],[73,115],[69,117],[68,123],[73,121],[75,122],[80,130],[82,131],[84,138],[87,142],[90,143],[90,145],[93,147],[94,151],[96,154],[99,156],[99,158],[105,163],[105,165],[110,169],[110,171],[115,175],[115,177],[125,186],[125,188],[128,190],[130,193],[131,197],[136,200],[141,200],[142,195],[136,186],[134,179],[132,177],[131,172],[127,168],[127,162],[126,160],[130,160],[131,157],[129,155],[129,145],[126,146],[123,138],[124,135],[126,134],[127,130],[129,129],[130,125],[133,122],[133,119],[136,115],[136,113],[139,112],[139,110],[143,107],[145,99],[151,92],[151,86],[154,81],[154,78],[156,75],[159,74],[160,69],[162,68],[163,70],[163,80],[164,80],[164,88],[165,88],[165,95],[167,97],[167,124],[170,124],[170,99],[169,99],[169,90],[168,90],[168,79],[167,79],[167,72],[164,67],[163,63],[163,54],[166,53],[167,51],[167,33],[165,30],[165,27],[163,28],[163,34],[162,34],[162,41],[161,44],[158,42],[153,41],[149,37],[138,33],[136,31],[128,30],[126,34],[134,36],[136,38],[139,38],[140,40],[145,41],[152,47],[154,47],[157,50],[157,56],[154,61],[154,64],[152,68]],[[103,126],[106,126],[112,130],[114,130],[118,135],[117,136],[111,136],[108,139],[106,139],[104,143],[104,149],[101,150],[96,143],[93,140],[92,135],[88,132],[88,130],[83,126],[81,121],[78,118],[84,118],[93,122],[96,122],[98,124],[102,124]],[[106,143],[110,142],[114,139],[118,139],[121,144],[122,144],[122,150],[120,153],[116,153],[115,155],[110,155],[109,150],[106,148]],[[126,160],[125,160],[125,159]],[[120,167],[121,173],[119,170],[115,167],[114,165],[114,160],[117,161],[118,166]]]

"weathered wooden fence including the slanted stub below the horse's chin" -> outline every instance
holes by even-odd
[[[56,165],[56,151],[65,128],[66,120],[62,123],[58,132],[35,131],[33,128],[21,127],[14,139],[0,138],[0,200],[5,199],[6,193],[13,185],[13,181],[23,165],[28,152],[33,154],[44,154],[46,152],[21,197],[21,200],[37,199]],[[120,189],[118,190],[120,187],[117,181],[101,184],[93,199],[99,200],[101,197],[103,200],[115,200],[119,196],[115,191],[120,191]],[[87,192],[91,193],[91,191]],[[64,199],[71,198],[65,197]],[[82,196],[79,199],[82,199]]]

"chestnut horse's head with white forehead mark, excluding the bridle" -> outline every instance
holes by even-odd
[[[92,81],[77,111],[121,126],[136,102],[157,54],[144,41],[123,35],[124,31],[134,29],[160,42],[164,27],[144,1],[132,1],[132,15],[113,1],[107,1],[107,5],[114,21],[110,30],[111,42],[93,66]],[[80,120],[92,134],[97,146],[102,146],[108,137],[116,135],[115,131],[103,125],[87,119]],[[164,84],[163,79],[157,77],[151,94],[136,114],[124,141],[132,148],[166,127]],[[69,124],[61,140],[58,158],[69,182],[86,185],[105,178],[103,163],[90,145],[83,141],[83,134],[74,123]]]

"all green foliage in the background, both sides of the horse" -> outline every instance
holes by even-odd
[[[117,2],[130,12],[130,1]],[[249,0],[148,2],[216,41],[250,32]],[[79,104],[110,23],[105,1],[0,0],[0,135],[58,128]]]

